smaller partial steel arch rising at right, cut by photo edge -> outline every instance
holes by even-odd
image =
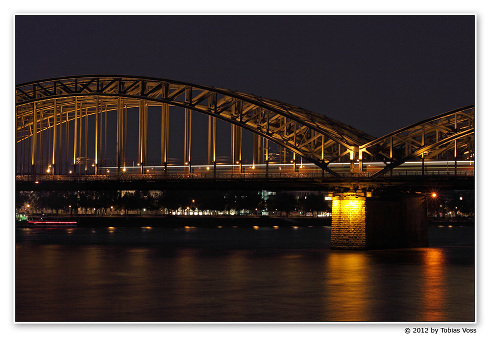
[[[475,106],[448,111],[419,121],[359,147],[359,158],[366,153],[390,164],[373,177],[380,176],[406,161],[474,160]]]

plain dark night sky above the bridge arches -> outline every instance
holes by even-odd
[[[15,17],[17,84],[97,73],[264,96],[379,137],[475,103],[475,18]]]

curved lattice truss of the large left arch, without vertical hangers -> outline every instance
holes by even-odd
[[[333,175],[337,174],[328,169],[330,162],[344,155],[350,155],[352,160],[360,146],[374,141],[374,137],[351,126],[276,100],[168,79],[125,75],[58,77],[17,85],[17,141],[74,120],[78,109],[84,109],[86,115],[95,114],[99,100],[104,109],[117,110],[119,98],[126,107],[137,107],[142,101],[148,106],[164,103],[239,125]]]

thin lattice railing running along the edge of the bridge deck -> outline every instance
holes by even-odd
[[[345,179],[369,179],[376,172],[348,172],[340,173],[341,178]],[[377,177],[376,179],[400,179],[400,178],[433,178],[433,177],[457,177],[457,178],[472,178],[475,176],[475,171],[393,171]],[[43,182],[71,182],[71,181],[138,181],[138,180],[236,180],[236,179],[339,179],[328,174],[307,172],[307,173],[188,173],[188,174],[120,174],[120,175],[105,175],[105,174],[90,174],[90,175],[17,175],[17,182],[43,181]]]

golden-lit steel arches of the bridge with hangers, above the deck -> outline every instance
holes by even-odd
[[[231,162],[242,172],[242,130],[254,136],[254,163],[269,165],[269,142],[289,152],[297,171],[299,158],[340,177],[329,165],[382,160],[386,167],[375,175],[421,158],[474,160],[474,105],[421,121],[384,137],[374,137],[339,121],[268,98],[152,77],[83,75],[58,77],[16,86],[16,174],[62,175],[82,173],[77,165],[94,166],[100,174],[102,154],[115,128],[118,174],[127,174],[128,122],[138,115],[138,173],[147,166],[148,108],[161,109],[161,165],[169,163],[170,107],[184,112],[184,162],[191,171],[192,111],[208,117],[208,165],[216,172],[216,121],[231,124]],[[155,108],[152,108],[155,109]],[[115,116],[115,125],[107,116]],[[90,142],[89,139],[90,129]],[[90,144],[89,144],[90,143]],[[90,148],[89,148],[90,147]],[[450,150],[450,151],[449,151]],[[450,152],[450,153],[449,153]],[[133,158],[136,155],[133,156]],[[357,164],[359,163],[359,164]],[[357,169],[356,166],[357,165]]]

